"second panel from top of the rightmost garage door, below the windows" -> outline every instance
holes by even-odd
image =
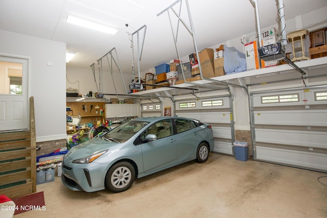
[[[255,111],[255,124],[326,126],[325,110]]]

